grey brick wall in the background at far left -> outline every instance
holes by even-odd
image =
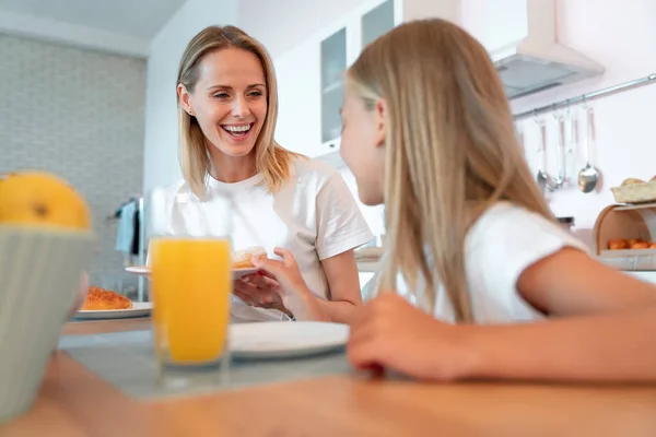
[[[142,187],[145,62],[0,35],[0,174],[45,169],[87,199],[93,283],[124,274],[105,218]]]

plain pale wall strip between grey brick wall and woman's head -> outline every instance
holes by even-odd
[[[237,1],[188,0],[152,42],[145,93],[145,193],[157,186],[169,186],[181,177],[175,82],[185,47],[206,26],[235,24]]]

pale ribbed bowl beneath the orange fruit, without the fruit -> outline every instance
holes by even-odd
[[[0,226],[0,423],[32,406],[94,247],[91,233]]]

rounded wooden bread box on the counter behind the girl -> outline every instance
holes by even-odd
[[[604,263],[619,270],[656,271],[656,249],[611,250],[613,239],[656,241],[656,203],[607,206],[594,227],[594,249]]]

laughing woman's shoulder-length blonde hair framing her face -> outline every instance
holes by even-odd
[[[210,52],[225,48],[247,50],[259,59],[267,85],[267,116],[255,143],[256,169],[269,192],[276,192],[290,177],[291,161],[295,153],[280,146],[273,139],[278,119],[278,84],[273,62],[267,49],[255,38],[235,26],[209,26],[199,32],[187,45],[180,60],[177,84],[194,92],[199,80],[199,66]],[[178,96],[178,130],[180,168],[186,182],[199,198],[207,191],[211,169],[208,144],[196,117],[183,109]]]

